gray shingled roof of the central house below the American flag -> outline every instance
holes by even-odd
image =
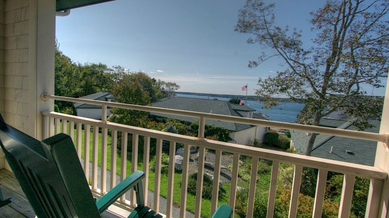
[[[185,98],[185,97],[176,97],[173,99],[159,101],[153,104],[154,107],[158,108],[168,108],[168,109],[181,109],[181,110],[190,110],[196,112],[205,112],[205,113],[216,113],[223,115],[231,115],[231,116],[239,116],[234,109],[232,109],[230,103],[226,101],[218,101],[218,100],[207,100],[207,99],[195,99],[195,98]],[[236,107],[235,107],[236,108]],[[241,108],[241,109],[246,109]],[[253,109],[255,110],[255,109]],[[251,110],[250,110],[251,111]],[[187,116],[178,116],[173,114],[163,114],[163,113],[151,113],[157,116],[163,116],[168,118],[179,119],[187,122],[194,122],[198,119]],[[241,123],[233,123],[233,122],[224,122],[217,120],[205,120],[206,125],[215,125],[217,127],[222,127],[231,131],[240,131],[243,129],[250,128],[251,125],[241,124]]]

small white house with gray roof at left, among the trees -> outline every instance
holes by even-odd
[[[105,101],[105,102],[114,102],[115,98],[109,92],[98,92],[91,95],[80,97],[80,99],[96,100],[96,101]],[[88,117],[92,119],[101,119],[102,107],[101,105],[89,105],[83,103],[74,103],[74,108],[76,109],[77,116]],[[107,116],[111,112],[107,111]]]

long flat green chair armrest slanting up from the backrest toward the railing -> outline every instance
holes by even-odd
[[[116,185],[107,194],[96,201],[97,209],[102,214],[107,208],[112,205],[120,196],[124,195],[128,190],[142,182],[145,177],[145,173],[142,171],[136,171],[132,173],[125,180]]]

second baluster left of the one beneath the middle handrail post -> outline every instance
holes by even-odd
[[[168,204],[166,206],[166,217],[171,218],[173,215],[173,186],[174,186],[174,170],[176,161],[176,142],[170,141],[169,147],[169,172],[168,172]]]

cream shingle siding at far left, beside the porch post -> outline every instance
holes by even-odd
[[[0,1],[0,72],[3,73],[2,92],[7,123],[32,134],[28,125],[31,109],[28,70],[28,0]],[[0,97],[1,98],[1,97]],[[1,102],[1,100],[0,100]]]

